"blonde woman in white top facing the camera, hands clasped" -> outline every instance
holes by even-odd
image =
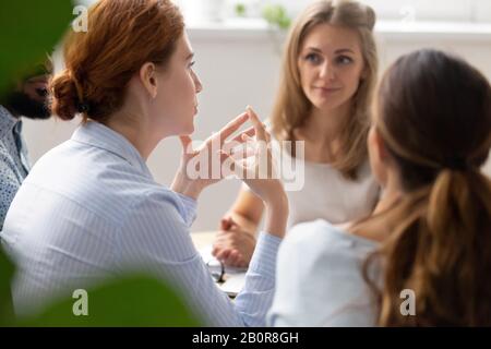
[[[287,190],[288,227],[318,218],[346,222],[370,214],[378,201],[366,145],[378,75],[374,24],[367,5],[319,1],[289,34],[271,116],[276,145],[304,142],[303,188]],[[284,157],[300,156],[278,148]],[[214,255],[226,265],[247,266],[263,210],[261,200],[244,186],[221,219]]]

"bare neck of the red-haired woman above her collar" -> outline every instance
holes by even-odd
[[[123,135],[140,153],[145,161],[157,146],[159,140],[155,140],[148,123],[139,115],[128,111],[115,112],[105,125]]]

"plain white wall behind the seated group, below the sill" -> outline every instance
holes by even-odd
[[[278,44],[272,40],[268,32],[261,28],[190,29],[190,38],[196,52],[196,71],[204,85],[199,98],[200,113],[194,137],[204,140],[247,105],[253,106],[266,118],[273,104],[280,62],[276,52]],[[378,39],[382,69],[405,52],[421,47],[439,47],[464,56],[491,80],[491,31],[478,35],[448,35],[428,31],[410,34],[385,28],[378,34]],[[67,140],[75,127],[76,122],[55,119],[26,121],[25,136],[32,159],[35,161]],[[171,182],[179,156],[177,140],[161,142],[148,160],[158,182]],[[491,164],[488,164],[487,171],[491,173]],[[201,196],[193,230],[215,229],[220,215],[233,202],[239,185],[238,181],[232,180],[207,189]]]

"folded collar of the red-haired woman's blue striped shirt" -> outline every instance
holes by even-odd
[[[148,178],[153,178],[139,151],[122,134],[96,121],[80,125],[73,133],[72,141],[85,143],[123,158],[140,169]]]

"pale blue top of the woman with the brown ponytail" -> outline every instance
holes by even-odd
[[[272,326],[374,326],[373,293],[362,277],[371,240],[325,220],[294,227],[278,252]],[[371,277],[376,268],[370,268]]]

